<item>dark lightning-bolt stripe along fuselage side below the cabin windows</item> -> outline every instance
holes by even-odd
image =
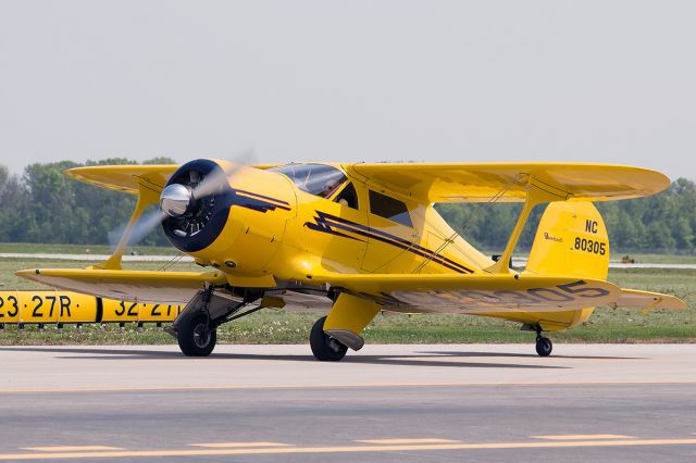
[[[433,262],[438,263],[443,266],[446,266],[447,268],[450,268],[455,272],[474,273],[471,268],[460,264],[459,262],[452,261],[451,259],[448,259],[442,254],[431,251],[427,248],[423,248],[422,246],[419,246],[414,242],[411,242],[409,240],[399,238],[398,236],[395,236],[378,229],[370,228],[357,222],[347,221],[336,215],[327,214],[325,212],[316,211],[314,223],[307,222],[304,225],[308,228],[316,232],[337,235],[337,236],[341,236],[350,239],[358,239],[358,238],[348,236],[345,233],[337,232],[336,229],[340,229],[343,232],[350,232],[352,234],[360,235],[365,238],[372,238],[382,242],[386,242],[387,245],[396,246],[397,248],[401,248],[417,255],[421,255],[423,258],[430,259]]]

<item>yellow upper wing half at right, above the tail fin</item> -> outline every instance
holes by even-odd
[[[527,186],[558,197],[605,201],[639,198],[667,188],[669,178],[659,172],[608,164],[486,163],[353,164],[347,167],[373,187],[412,196],[427,202],[521,202]]]

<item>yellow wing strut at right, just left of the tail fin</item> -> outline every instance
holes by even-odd
[[[521,174],[527,175],[527,174]],[[508,263],[510,262],[510,258],[512,256],[512,251],[514,251],[515,246],[518,246],[518,241],[520,240],[520,235],[522,235],[522,229],[524,229],[524,225],[526,221],[530,218],[530,213],[534,209],[535,205],[542,204],[544,202],[552,202],[552,201],[567,201],[572,197],[572,193],[569,191],[562,190],[556,186],[549,185],[539,180],[538,178],[534,178],[532,175],[529,175],[529,180],[526,185],[526,199],[524,201],[524,207],[520,212],[520,216],[518,217],[518,222],[514,224],[514,228],[512,229],[512,234],[508,239],[508,243],[505,247],[505,251],[498,261],[486,268],[486,272],[489,273],[510,273],[510,267]]]

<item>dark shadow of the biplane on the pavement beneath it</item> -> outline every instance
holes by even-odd
[[[308,347],[309,349],[309,347]],[[57,354],[78,354],[70,356],[61,356],[63,359],[88,359],[88,360],[190,360],[178,351],[154,351],[147,349],[103,349],[103,348],[74,348],[74,347],[0,347],[0,351],[24,351],[24,352],[53,352]],[[532,368],[532,370],[566,370],[571,366],[562,365],[525,365],[500,362],[459,362],[455,360],[443,360],[455,356],[515,356],[515,358],[537,358],[536,355],[515,354],[515,353],[492,353],[492,352],[437,352],[423,351],[410,355],[353,355],[346,356],[343,363],[360,363],[360,364],[377,364],[377,365],[398,365],[398,366],[434,366],[434,367],[475,367],[475,368]],[[252,354],[252,353],[213,353],[209,358],[197,359],[198,361],[208,360],[270,360],[270,361],[288,361],[288,362],[316,362],[312,355],[275,355],[275,354]],[[596,359],[596,358],[569,358],[569,359]],[[616,359],[610,356],[601,356],[598,359]]]

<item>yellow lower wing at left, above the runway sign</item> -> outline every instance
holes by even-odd
[[[92,268],[37,268],[17,276],[55,288],[111,299],[186,303],[204,285],[223,285],[223,272],[152,272]]]

